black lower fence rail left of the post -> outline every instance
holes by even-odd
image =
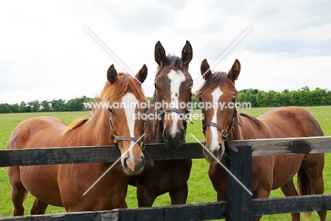
[[[226,218],[226,201],[100,212],[4,217],[1,221],[211,220]]]

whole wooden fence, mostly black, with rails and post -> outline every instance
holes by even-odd
[[[277,138],[234,141],[238,153],[230,151],[228,168],[252,189],[252,157],[296,153],[331,152],[331,137]],[[153,160],[202,158],[199,143],[184,143],[179,149],[163,144],[146,145]],[[0,150],[0,167],[19,165],[54,165],[83,162],[115,162],[120,151],[114,146],[41,148],[35,150]],[[206,171],[207,173],[207,171]],[[116,209],[100,212],[59,213],[4,217],[0,220],[252,220],[254,215],[301,213],[331,210],[331,195],[293,196],[286,198],[252,199],[237,181],[228,176],[228,199],[214,203],[171,205],[153,208]]]

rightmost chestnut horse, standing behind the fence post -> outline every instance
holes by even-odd
[[[211,73],[209,64],[204,59],[201,73],[205,81],[196,96],[204,104],[211,102],[214,106],[210,109],[202,109],[205,147],[223,164],[226,164],[223,157],[223,153],[226,152],[225,143],[231,143],[226,141],[226,136],[231,140],[323,136],[318,121],[308,111],[299,107],[280,107],[257,118],[249,114],[237,114],[238,92],[235,88],[235,80],[240,73],[238,60],[234,62],[228,73]],[[221,109],[222,106],[216,104],[224,104],[226,108]],[[208,174],[217,192],[217,200],[224,201],[226,172],[205,150],[204,155],[210,163]],[[298,192],[293,182],[297,172],[298,189],[302,195],[323,194],[323,167],[324,154],[252,157],[253,198],[268,198],[270,191],[279,187],[285,196],[297,196]],[[320,220],[325,220],[325,211],[319,211],[318,215]],[[300,220],[300,213],[291,216],[292,220]],[[254,220],[260,220],[260,217],[254,217]]]

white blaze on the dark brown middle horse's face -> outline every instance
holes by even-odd
[[[183,81],[186,80],[185,74],[182,71],[173,71],[171,70],[168,73],[168,78],[170,79],[170,95],[171,95],[171,102],[169,107],[179,109],[178,97],[180,92],[180,85]],[[177,129],[177,122],[179,119],[178,113],[171,112],[172,119],[173,119],[173,126],[170,129],[170,135],[175,137],[178,129]]]

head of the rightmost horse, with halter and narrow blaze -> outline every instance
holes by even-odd
[[[204,83],[197,92],[197,97],[204,104],[202,114],[203,132],[206,138],[204,155],[208,162],[221,160],[225,151],[225,143],[236,149],[230,141],[229,135],[236,120],[236,96],[235,80],[240,73],[240,62],[234,62],[228,73],[211,73],[206,59],[201,64],[201,74]],[[217,160],[216,160],[217,159]]]

